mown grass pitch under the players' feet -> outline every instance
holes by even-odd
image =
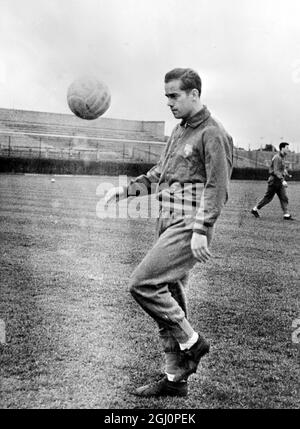
[[[190,320],[212,349],[188,398],[145,400],[131,392],[163,356],[127,284],[155,220],[96,216],[117,178],[50,179],[0,176],[1,408],[299,408],[299,222],[277,197],[252,217],[265,182],[232,182],[214,257],[192,272]],[[297,217],[300,185],[288,192]]]

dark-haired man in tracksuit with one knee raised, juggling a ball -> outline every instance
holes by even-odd
[[[201,89],[201,78],[192,69],[166,74],[168,106],[181,122],[156,166],[105,196],[108,204],[137,191],[147,194],[157,184],[158,239],[130,281],[132,296],[157,322],[165,353],[165,376],[135,392],[144,397],[186,396],[188,377],[210,347],[188,320],[185,289],[195,263],[211,257],[214,225],[228,199],[233,141],[202,105]]]

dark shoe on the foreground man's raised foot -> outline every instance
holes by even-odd
[[[175,382],[186,380],[197,371],[200,359],[209,353],[209,343],[199,335],[198,341],[188,350],[181,352],[180,369],[176,373]]]

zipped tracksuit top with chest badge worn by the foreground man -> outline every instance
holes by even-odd
[[[127,192],[156,192],[162,211],[194,214],[193,230],[206,235],[227,202],[232,168],[233,140],[203,106],[174,128],[158,163],[133,179]]]

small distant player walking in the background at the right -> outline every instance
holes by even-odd
[[[279,153],[277,153],[271,162],[270,177],[268,179],[268,188],[264,197],[257,203],[251,210],[255,217],[260,217],[258,210],[262,209],[265,205],[269,204],[274,196],[277,194],[280,205],[283,211],[284,220],[293,220],[293,217],[288,212],[289,199],[287,196],[287,177],[292,177],[286,168],[285,157],[288,153],[289,143],[282,142],[279,145]]]

